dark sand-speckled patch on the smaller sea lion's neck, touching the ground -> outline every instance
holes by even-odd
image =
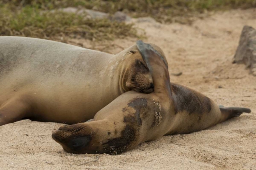
[[[127,124],[122,131],[122,136],[110,139],[103,148],[108,154],[116,155],[128,149],[128,146],[136,139],[136,131]]]

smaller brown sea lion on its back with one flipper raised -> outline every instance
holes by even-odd
[[[137,46],[151,71],[154,92],[126,92],[102,108],[93,121],[61,126],[52,137],[65,151],[119,154],[144,141],[199,131],[251,112],[219,108],[199,92],[170,83],[163,52],[142,41]]]

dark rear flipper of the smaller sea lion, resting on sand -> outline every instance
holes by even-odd
[[[239,117],[242,113],[251,113],[251,109],[244,107],[219,107],[223,115],[223,120],[230,119],[232,117]]]

